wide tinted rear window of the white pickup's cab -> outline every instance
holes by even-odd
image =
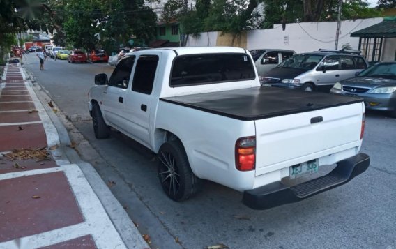
[[[191,54],[174,59],[169,86],[216,84],[255,77],[248,54]]]

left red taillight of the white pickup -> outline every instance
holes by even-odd
[[[256,137],[241,137],[235,144],[235,165],[240,171],[256,167]]]

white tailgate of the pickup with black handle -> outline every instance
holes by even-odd
[[[357,152],[362,113],[362,103],[353,103],[255,121],[256,175],[347,149]]]

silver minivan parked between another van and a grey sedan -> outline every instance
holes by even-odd
[[[319,51],[296,54],[260,77],[264,86],[314,91],[330,90],[339,82],[367,68],[368,63],[355,53]]]

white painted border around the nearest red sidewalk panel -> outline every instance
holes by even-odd
[[[78,165],[69,164],[49,169],[10,172],[0,174],[0,180],[52,172],[63,172],[66,175],[84,218],[84,222],[14,239],[12,241],[6,241],[0,243],[0,246],[10,249],[41,248],[91,234],[98,248],[126,248],[115,227],[109,225],[112,224],[112,221],[107,216],[102,203],[100,203],[100,200],[93,192],[91,185],[89,185],[89,182],[86,180],[84,173]],[[117,241],[115,245],[114,241]]]

